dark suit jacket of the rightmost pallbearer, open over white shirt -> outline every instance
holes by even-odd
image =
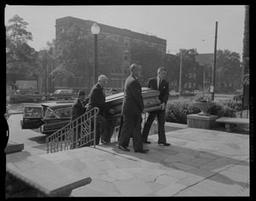
[[[162,79],[162,82],[160,83],[160,88],[158,89],[157,78],[149,78],[146,87],[154,90],[159,90],[159,100],[161,101],[161,103],[167,103],[169,99],[169,83],[167,83],[166,80]]]

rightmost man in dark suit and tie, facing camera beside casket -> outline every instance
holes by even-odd
[[[166,142],[166,131],[165,131],[165,123],[166,123],[166,103],[169,98],[169,83],[164,80],[166,77],[166,68],[160,67],[157,70],[158,76],[156,78],[149,78],[146,87],[160,90],[159,100],[161,110],[149,112],[148,119],[143,127],[143,142],[150,144],[148,141],[148,133],[152,123],[154,122],[154,118],[157,117],[158,121],[158,144],[162,144],[164,146],[170,146],[170,143]]]

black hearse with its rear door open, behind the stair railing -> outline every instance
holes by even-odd
[[[52,134],[70,122],[73,101],[44,104],[23,104],[21,129],[40,129],[42,134]]]

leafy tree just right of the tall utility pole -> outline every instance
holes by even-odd
[[[232,90],[235,83],[240,85],[241,71],[240,55],[238,53],[231,52],[229,49],[218,49],[216,81],[220,83],[219,89],[222,89],[222,92]]]

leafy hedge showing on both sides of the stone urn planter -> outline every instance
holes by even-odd
[[[208,110],[211,115],[221,117],[236,117],[236,109],[239,110],[241,103],[234,100],[221,100],[214,102],[214,105]],[[235,109],[236,108],[236,109]],[[172,100],[166,104],[166,122],[187,123],[188,114],[197,114],[201,112],[192,100]]]

